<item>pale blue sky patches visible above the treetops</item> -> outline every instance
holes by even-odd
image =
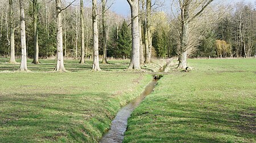
[[[166,1],[166,5],[170,5],[171,0],[162,0],[162,1]],[[256,0],[224,0],[224,1],[226,1],[226,3],[236,3],[241,1],[255,3]],[[114,0],[111,10],[125,17],[130,15],[130,6],[126,0]]]

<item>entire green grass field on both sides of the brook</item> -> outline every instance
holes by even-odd
[[[12,72],[19,65],[7,61],[0,58],[0,142],[97,142],[152,79],[124,71],[129,60],[109,60],[102,72],[90,72],[92,61],[65,60],[66,73],[51,72],[55,60],[28,60],[28,73]],[[124,142],[255,142],[256,60],[188,65],[192,72],[160,79],[129,119]]]

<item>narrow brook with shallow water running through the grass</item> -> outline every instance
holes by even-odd
[[[112,121],[109,132],[101,138],[100,142],[113,143],[123,141],[127,128],[128,118],[130,117],[133,110],[142,102],[142,100],[154,90],[157,82],[158,79],[154,79],[154,81],[147,85],[147,87],[138,98],[126,104],[126,106],[122,107],[121,110],[118,111],[117,116],[115,116],[115,119]]]

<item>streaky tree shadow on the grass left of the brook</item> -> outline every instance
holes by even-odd
[[[0,139],[5,142],[95,141],[119,105],[106,92],[1,96]],[[112,105],[111,107],[109,105]],[[108,122],[107,122],[108,121]],[[71,137],[71,138],[70,138]]]

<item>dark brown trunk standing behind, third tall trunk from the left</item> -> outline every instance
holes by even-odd
[[[37,0],[33,0],[33,22],[34,22],[34,57],[32,63],[40,64],[39,62],[39,47],[38,47],[38,10]]]

